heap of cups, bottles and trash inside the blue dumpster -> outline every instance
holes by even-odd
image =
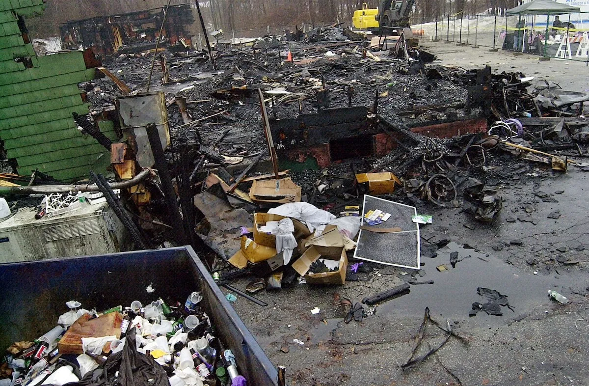
[[[186,302],[160,298],[145,307],[134,301],[84,312],[67,330],[58,325],[37,343],[15,342],[7,350],[12,371],[4,375],[14,374],[23,385],[203,385],[227,381],[229,373],[233,384],[245,384],[202,299],[193,292]],[[80,302],[68,306],[69,312],[82,311]]]

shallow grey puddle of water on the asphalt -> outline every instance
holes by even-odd
[[[455,268],[450,264],[450,253],[458,252],[458,263]],[[470,257],[468,257],[470,256]],[[487,261],[484,261],[484,260]],[[485,303],[487,299],[477,294],[478,287],[495,289],[502,295],[508,296],[509,305],[515,309],[512,312],[507,307],[501,307],[503,316],[490,316],[479,311],[476,319],[478,323],[498,325],[505,321],[524,315],[539,305],[548,305],[548,290],[552,289],[568,296],[568,287],[578,286],[586,279],[578,273],[567,272],[567,276],[533,275],[532,272],[519,270],[507,265],[493,256],[465,249],[463,246],[451,242],[438,250],[438,257],[424,258],[426,275],[416,275],[418,282],[433,280],[434,284],[412,285],[411,292],[388,302],[378,305],[377,314],[423,315],[423,309],[429,307],[431,315],[450,321],[464,321],[472,309],[472,303]],[[446,265],[448,270],[439,272],[436,266]],[[565,269],[562,268],[562,271]],[[561,272],[562,272],[561,271]],[[409,271],[411,275],[415,271]]]

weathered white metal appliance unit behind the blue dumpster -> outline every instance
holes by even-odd
[[[19,209],[0,220],[0,263],[104,255],[131,250],[133,243],[107,203],[35,220],[37,211]]]

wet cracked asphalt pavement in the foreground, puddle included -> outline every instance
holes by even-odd
[[[422,256],[423,276],[379,266],[360,275],[366,281],[262,291],[255,296],[269,306],[240,298],[234,308],[270,360],[287,367],[290,385],[589,385],[589,174],[573,166],[552,174],[530,164],[520,176],[505,177],[499,177],[504,207],[492,224],[478,223],[460,208],[418,209],[434,216],[432,225],[421,226],[422,252],[428,244],[451,241],[435,258]],[[459,252],[455,268],[452,251]],[[438,265],[449,269],[438,272]],[[379,303],[362,322],[343,322],[342,298],[358,302],[412,275],[434,284],[411,286],[408,294]],[[244,289],[250,281],[235,285]],[[472,303],[483,300],[479,286],[507,295],[514,311],[502,307],[503,316],[479,312],[469,318]],[[570,303],[551,301],[549,289]],[[432,318],[469,342],[451,336],[438,352],[403,371],[426,306]],[[310,312],[315,307],[318,315]],[[445,332],[428,325],[417,354],[444,339]]]

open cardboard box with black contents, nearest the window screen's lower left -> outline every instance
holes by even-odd
[[[309,268],[317,259],[339,260],[339,268],[335,272],[308,273]],[[303,256],[293,263],[293,268],[299,275],[304,276],[309,284],[342,285],[346,283],[348,270],[348,256],[343,247],[311,246]]]

